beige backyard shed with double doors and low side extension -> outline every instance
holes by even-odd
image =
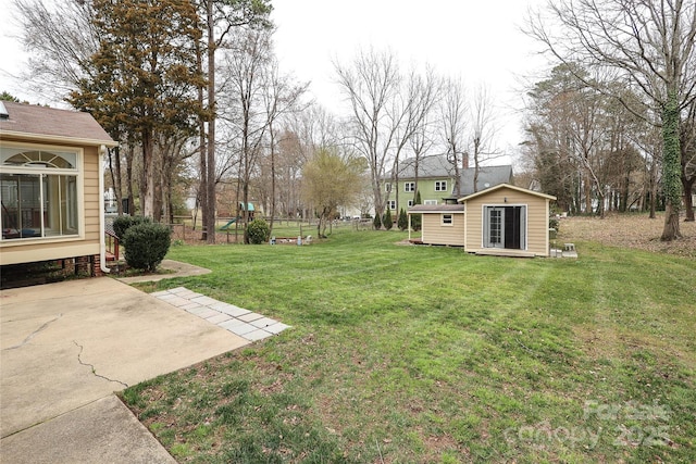
[[[551,200],[556,197],[499,184],[463,197],[458,204],[410,208],[409,230],[411,214],[421,214],[420,242],[463,246],[477,254],[548,256]]]

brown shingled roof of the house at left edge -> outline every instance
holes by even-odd
[[[116,142],[89,113],[4,101],[8,118],[0,118],[0,136],[72,140],[114,147]]]

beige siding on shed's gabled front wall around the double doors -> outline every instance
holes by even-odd
[[[467,251],[483,249],[484,205],[526,205],[526,251],[548,255],[548,200],[510,188],[467,200]]]

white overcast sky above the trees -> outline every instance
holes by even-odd
[[[539,46],[520,29],[529,8],[545,0],[272,0],[275,51],[282,71],[310,81],[311,97],[330,112],[347,112],[335,83],[334,62],[349,64],[360,49],[389,51],[402,68],[426,63],[473,89],[486,85],[497,100],[497,146],[513,152],[522,141],[524,81],[547,66]],[[2,71],[0,91],[29,102],[22,81],[11,77],[27,53],[13,36],[12,0],[0,0]]]

